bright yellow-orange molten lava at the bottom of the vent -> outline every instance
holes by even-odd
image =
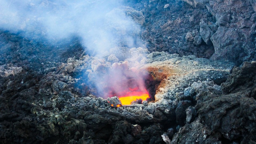
[[[121,101],[122,105],[130,105],[131,102],[142,99],[142,101],[146,101],[149,98],[149,94],[146,92],[135,91],[131,92],[128,95],[119,96],[119,100]]]

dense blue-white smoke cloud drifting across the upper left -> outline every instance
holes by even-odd
[[[140,44],[138,34],[142,23],[132,19],[129,9],[120,7],[124,5],[122,0],[0,0],[0,3],[0,29],[25,31],[25,37],[39,35],[54,42],[77,35],[98,54],[114,46]]]

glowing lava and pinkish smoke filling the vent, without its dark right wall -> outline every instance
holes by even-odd
[[[151,77],[147,69],[130,68],[125,61],[114,63],[109,71],[102,73],[107,74],[100,77],[97,87],[100,90],[98,94],[103,98],[118,97],[121,102],[118,101],[118,104],[122,105],[130,105],[133,101],[141,103],[151,98],[145,85],[146,79]],[[111,104],[116,106],[116,103]]]

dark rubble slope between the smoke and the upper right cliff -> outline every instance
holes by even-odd
[[[210,58],[214,53],[211,43],[206,45],[200,42],[200,19],[215,22],[207,9],[193,9],[185,2],[174,0],[127,3],[141,11],[145,17],[141,37],[150,52],[165,51],[180,56],[195,55],[203,58]]]

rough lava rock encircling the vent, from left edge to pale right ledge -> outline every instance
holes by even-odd
[[[207,78],[223,81],[234,65],[165,52],[149,54],[141,47],[117,47],[127,51],[122,57],[127,63],[134,63],[131,58],[136,57],[134,66],[147,69],[155,82],[162,83],[155,87],[157,102],[115,107],[111,103],[118,105],[119,101],[95,97],[94,85],[89,83],[91,75],[111,68],[109,56],[115,56],[111,51],[97,58],[81,51],[76,39],[73,44],[59,44],[65,48],[60,50],[8,32],[1,34],[1,45],[6,47],[2,47],[5,59],[0,57],[1,65],[22,67],[20,73],[0,77],[0,142],[7,143],[170,142],[176,127],[182,129],[195,117],[193,97],[187,95],[186,87]],[[30,49],[40,53],[25,53]]]

